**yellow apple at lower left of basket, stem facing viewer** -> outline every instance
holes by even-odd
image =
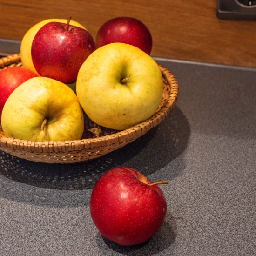
[[[7,99],[1,117],[6,136],[31,141],[81,139],[83,111],[67,85],[47,77],[34,77],[17,87]]]

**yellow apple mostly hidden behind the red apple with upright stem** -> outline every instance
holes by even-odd
[[[30,69],[32,72],[35,74],[39,75],[37,71],[35,70],[35,67],[33,65],[32,57],[31,57],[31,47],[32,47],[32,42],[34,40],[35,34],[38,32],[38,30],[43,27],[45,24],[49,22],[62,22],[62,23],[67,23],[67,20],[65,19],[47,19],[47,20],[42,20],[39,23],[35,24],[33,27],[31,27],[27,33],[23,36],[21,40],[21,45],[20,45],[20,58],[23,67],[26,67]],[[70,25],[74,25],[76,27],[81,27],[83,29],[86,29],[83,27],[80,23],[70,20]],[[87,29],[86,29],[87,30]]]

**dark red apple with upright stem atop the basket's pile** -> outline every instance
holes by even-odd
[[[91,34],[81,28],[61,22],[49,22],[34,37],[31,55],[38,74],[66,84],[76,81],[77,73],[95,50]]]

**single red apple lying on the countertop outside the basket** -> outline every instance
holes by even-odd
[[[102,175],[93,189],[90,210],[102,236],[120,245],[147,241],[166,215],[162,190],[132,168],[119,167]]]

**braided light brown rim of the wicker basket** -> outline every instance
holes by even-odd
[[[12,54],[3,58],[0,58],[0,67],[6,67],[8,65],[19,63],[20,62],[20,54]],[[33,150],[34,147],[40,148],[48,148],[61,145],[59,147],[54,147],[54,152],[72,152],[78,149],[89,149],[94,148],[95,144],[102,144],[102,146],[112,145],[116,143],[120,143],[125,141],[124,138],[132,139],[133,137],[139,137],[145,134],[149,129],[155,127],[159,124],[169,113],[171,108],[174,106],[178,97],[178,82],[175,76],[168,70],[168,68],[158,63],[158,66],[161,69],[162,75],[166,83],[170,86],[170,93],[168,95],[168,99],[166,103],[150,118],[145,121],[142,121],[135,126],[127,128],[125,130],[117,131],[114,134],[104,135],[96,138],[83,138],[80,140],[72,140],[72,141],[27,141],[19,138],[7,137],[4,135],[3,131],[0,130],[0,149],[12,149],[13,145],[26,144],[26,152],[35,152]],[[157,121],[160,120],[160,121]],[[117,140],[118,138],[118,140]],[[105,142],[105,143],[104,143]],[[69,147],[71,144],[75,145],[74,150],[68,150],[66,147]],[[63,148],[65,147],[65,149]],[[63,151],[64,149],[64,151]],[[46,151],[45,151],[46,150]],[[19,150],[20,151],[20,150]],[[21,150],[23,151],[23,150]],[[38,151],[38,150],[36,150]],[[48,152],[47,149],[44,149],[43,152]]]

